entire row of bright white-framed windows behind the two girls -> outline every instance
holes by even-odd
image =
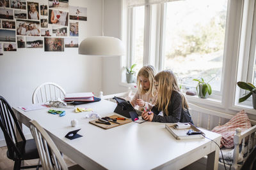
[[[130,63],[137,63],[137,69],[142,64],[156,71],[172,69],[182,87],[196,87],[196,77],[212,79],[211,99],[188,100],[254,113],[251,98],[238,103],[246,92],[237,90],[237,81],[256,84],[255,1],[127,1],[134,11]]]

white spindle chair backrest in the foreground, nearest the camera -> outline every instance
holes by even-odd
[[[31,120],[30,131],[36,141],[36,147],[43,169],[68,169],[60,151],[47,132],[35,120]]]

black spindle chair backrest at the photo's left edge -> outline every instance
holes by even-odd
[[[21,157],[26,145],[26,138],[24,137],[10,104],[8,104],[6,99],[2,96],[0,96],[0,127],[4,133],[10,157]],[[15,127],[17,131],[15,131]],[[21,138],[20,141],[17,139],[18,135]],[[17,148],[18,142],[21,144],[19,148]]]

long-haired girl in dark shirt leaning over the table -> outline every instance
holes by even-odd
[[[156,74],[155,87],[157,101],[151,114],[143,111],[142,117],[151,122],[177,123],[191,122],[188,103],[180,92],[177,78],[171,70],[164,70]],[[149,113],[149,114],[148,114]]]

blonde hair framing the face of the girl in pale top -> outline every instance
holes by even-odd
[[[148,78],[148,81],[150,83],[149,89],[148,90],[144,90],[141,87],[141,82],[140,82],[140,76],[144,76],[145,78]],[[145,94],[145,93],[151,93],[152,96],[154,96],[154,77],[155,77],[155,69],[153,66],[143,66],[141,67],[138,75],[137,75],[137,87],[138,87],[138,92],[140,92],[141,94]]]

